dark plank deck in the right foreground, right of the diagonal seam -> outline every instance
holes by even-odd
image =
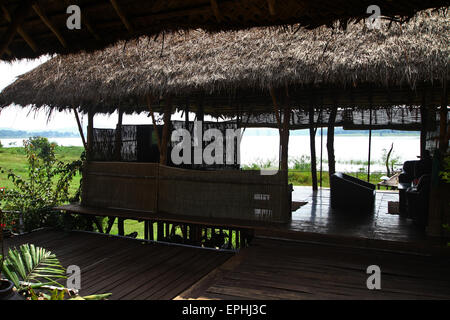
[[[381,290],[366,286],[381,268]],[[255,239],[176,299],[450,299],[450,256]]]

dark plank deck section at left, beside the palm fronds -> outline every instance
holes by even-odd
[[[115,300],[172,299],[232,256],[87,232],[43,230],[5,243],[33,243],[51,250],[63,266],[81,268],[81,295],[111,292]]]

